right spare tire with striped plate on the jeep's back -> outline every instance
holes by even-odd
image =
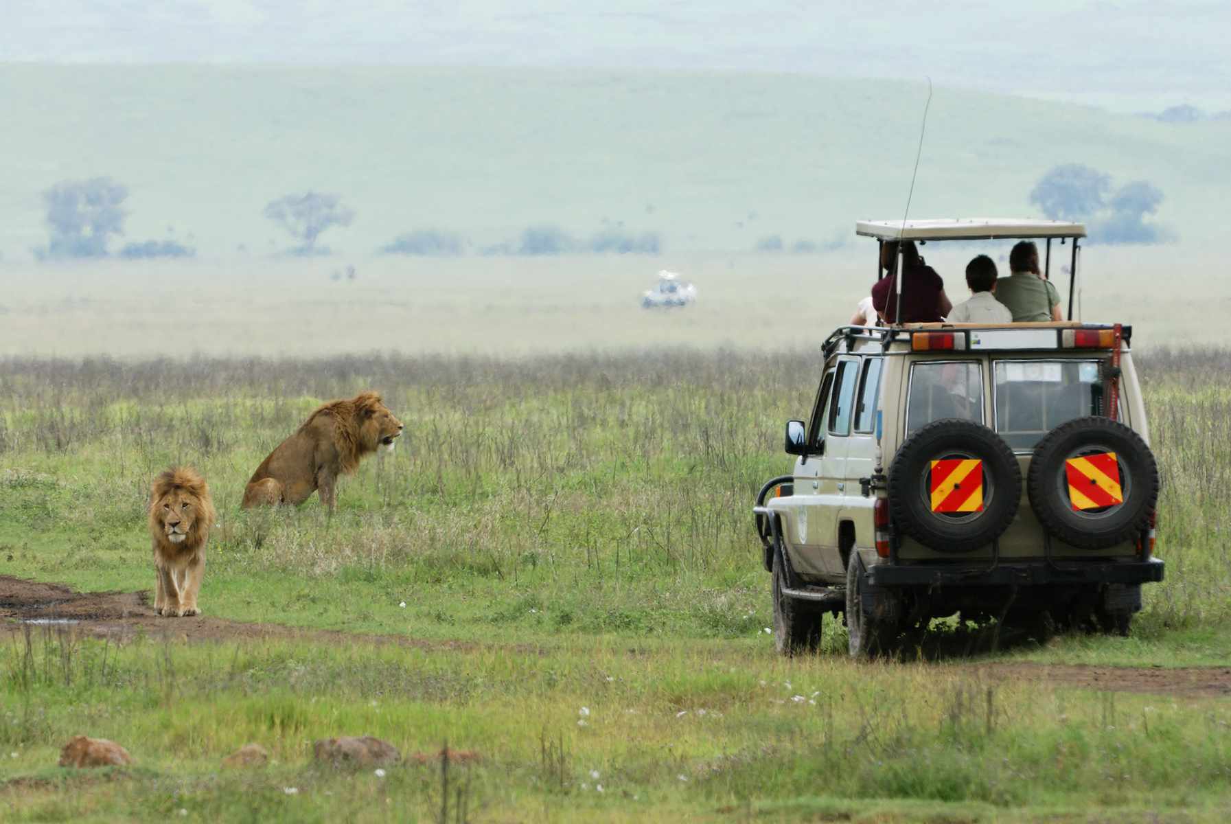
[[[1124,424],[1077,418],[1034,447],[1027,490],[1048,532],[1081,549],[1105,549],[1146,528],[1158,503],[1158,464]]]

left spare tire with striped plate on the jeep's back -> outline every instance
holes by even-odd
[[[1022,472],[1008,443],[956,418],[922,427],[889,467],[894,523],[937,552],[971,552],[1003,535],[1022,499]]]

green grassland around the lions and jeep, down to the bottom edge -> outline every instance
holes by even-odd
[[[1231,355],[1139,363],[1168,574],[1133,636],[947,627],[860,665],[838,623],[794,660],[764,631],[748,507],[812,352],[0,361],[0,573],[148,592],[151,477],[196,466],[219,511],[204,617],[5,636],[5,820],[1226,820],[1231,703],[1178,685],[1231,658]],[[239,509],[366,388],[407,434],[332,517]],[[1190,669],[1131,692],[1045,669],[1080,664]],[[79,733],[137,766],[55,767]],[[448,788],[313,766],[340,734],[481,760]],[[273,764],[220,770],[246,741]]]

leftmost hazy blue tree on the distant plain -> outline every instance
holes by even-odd
[[[128,187],[111,177],[64,180],[43,192],[50,239],[39,257],[105,257],[107,240],[124,233]]]

